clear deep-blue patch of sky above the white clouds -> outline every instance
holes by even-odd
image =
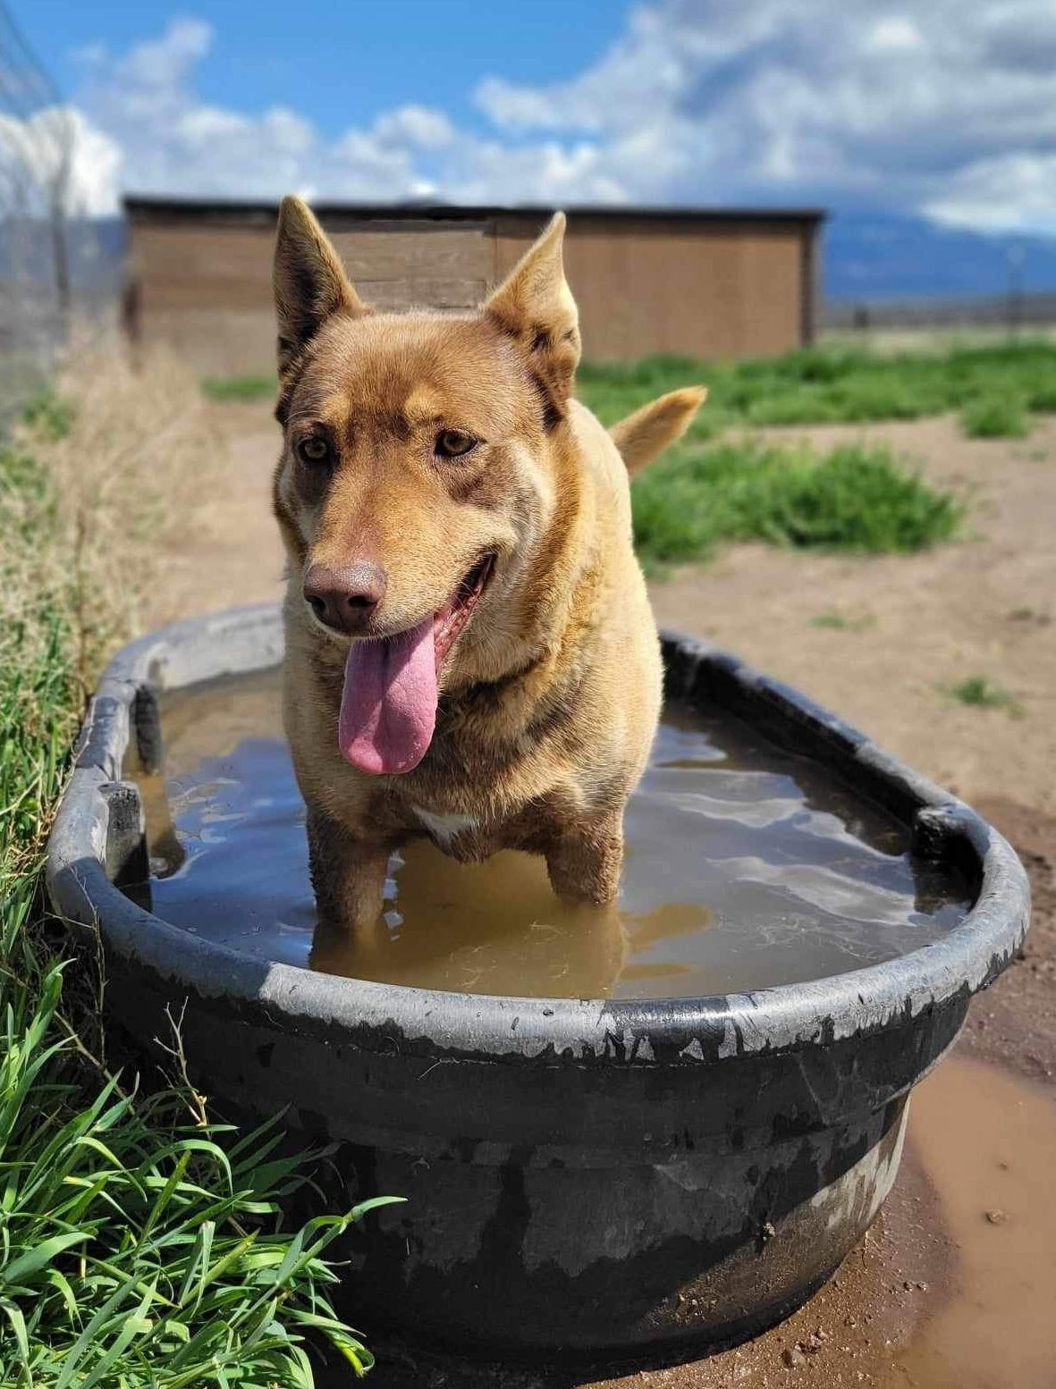
[[[206,101],[261,111],[289,103],[325,136],[410,103],[438,106],[479,128],[471,96],[502,75],[543,83],[574,78],[620,35],[629,0],[226,0],[174,6],[15,0],[14,13],[67,94],[83,82],[78,53],[129,49],[182,14],[218,42],[197,69]]]

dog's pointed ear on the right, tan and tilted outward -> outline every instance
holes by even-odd
[[[579,314],[564,278],[564,213],[554,213],[542,236],[485,301],[484,311],[529,358],[545,388],[549,415],[564,414],[579,365]]]

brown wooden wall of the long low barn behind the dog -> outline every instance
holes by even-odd
[[[538,219],[328,221],[363,297],[379,308],[470,308],[531,243]],[[272,229],[132,225],[133,329],[211,375],[274,365]],[[649,218],[570,224],[566,265],[585,356],[779,353],[809,332],[810,232],[793,222]]]

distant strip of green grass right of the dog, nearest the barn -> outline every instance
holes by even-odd
[[[657,356],[625,365],[585,363],[578,381],[579,394],[606,424],[666,390],[703,382],[709,399],[691,435],[700,440],[731,424],[918,419],[995,399],[1056,411],[1056,344],[1014,340],[885,354],[805,347],[739,363]]]

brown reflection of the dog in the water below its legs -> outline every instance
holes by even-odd
[[[542,858],[503,850],[460,864],[415,840],[390,860],[382,914],[371,926],[350,932],[320,922],[311,968],[457,993],[600,999],[652,939],[707,924],[707,908],[698,906],[643,915],[567,906]]]

